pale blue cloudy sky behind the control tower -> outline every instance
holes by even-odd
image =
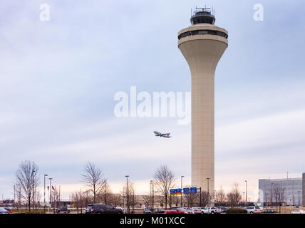
[[[41,4],[50,21],[41,21]],[[264,21],[254,21],[254,4]],[[229,47],[215,75],[215,188],[244,191],[262,178],[305,172],[305,2],[205,1]],[[0,194],[13,198],[14,172],[32,160],[61,185],[83,188],[95,162],[120,192],[125,175],[149,192],[168,165],[190,185],[191,125],[178,118],[116,118],[114,95],[189,92],[177,32],[202,1],[2,0],[0,3]],[[156,138],[153,130],[170,132]],[[179,181],[177,181],[177,185]]]

